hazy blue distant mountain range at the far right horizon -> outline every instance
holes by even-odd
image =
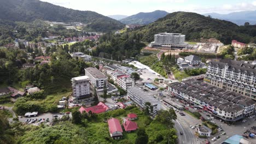
[[[203,15],[210,15],[214,19],[231,21],[240,26],[244,25],[245,22],[249,22],[251,25],[256,24],[256,10],[240,11],[230,14],[209,13]]]

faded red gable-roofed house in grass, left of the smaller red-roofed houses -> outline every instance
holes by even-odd
[[[113,139],[120,139],[123,136],[123,129],[117,118],[108,119],[109,134]]]

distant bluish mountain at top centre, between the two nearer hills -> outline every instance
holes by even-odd
[[[166,16],[168,13],[162,10],[155,10],[150,13],[138,13],[136,15],[131,15],[125,19],[121,19],[120,22],[126,25],[136,24],[136,25],[148,25],[161,17]]]

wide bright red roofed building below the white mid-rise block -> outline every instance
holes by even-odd
[[[91,111],[92,113],[102,113],[102,112],[106,112],[109,109],[109,107],[107,105],[105,105],[104,103],[100,102],[95,106],[91,106],[91,107],[87,107],[84,108],[83,106],[80,107],[79,111],[81,113],[83,113],[84,111],[89,113],[89,111]]]

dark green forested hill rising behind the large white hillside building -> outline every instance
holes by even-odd
[[[174,12],[136,30],[143,41],[154,41],[154,34],[160,32],[182,33],[186,40],[199,40],[200,38],[216,38],[224,44],[230,44],[236,39],[249,43],[256,37],[256,26],[237,26],[235,23],[212,19],[196,13]]]

